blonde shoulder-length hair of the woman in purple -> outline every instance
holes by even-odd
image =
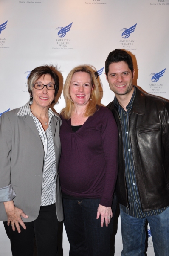
[[[63,96],[65,98],[66,106],[65,108],[62,109],[61,115],[63,116],[64,119],[67,119],[67,120],[71,118],[72,112],[74,110],[74,102],[72,99],[70,99],[70,93],[69,93],[71,79],[74,73],[80,72],[80,71],[86,72],[90,75],[91,84],[93,87],[91,100],[89,100],[89,104],[87,104],[87,108],[85,110],[85,116],[92,116],[96,112],[96,110],[99,109],[99,103],[98,103],[100,98],[99,83],[96,79],[94,70],[88,65],[80,65],[78,67],[73,68],[73,70],[70,71],[63,87]]]

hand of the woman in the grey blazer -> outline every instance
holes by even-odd
[[[23,210],[15,207],[13,200],[4,202],[6,214],[8,216],[8,226],[11,224],[12,230],[15,231],[15,226],[17,228],[18,233],[20,233],[20,225],[26,229],[26,226],[21,219],[21,216],[23,218],[28,218],[28,215],[26,215]],[[11,222],[11,223],[10,223]],[[20,225],[19,225],[20,223]]]

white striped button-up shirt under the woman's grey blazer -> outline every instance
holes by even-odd
[[[31,112],[30,105],[31,102],[28,102],[25,106],[21,107],[17,116],[30,115],[34,119],[35,125],[39,132],[39,136],[42,140],[44,148],[44,165],[43,165],[43,176],[42,176],[42,197],[41,205],[50,205],[54,204],[56,201],[56,160],[55,160],[55,151],[54,151],[54,141],[52,137],[51,130],[51,119],[54,116],[54,112],[49,108],[49,125],[48,129],[44,131],[39,119],[34,116]]]

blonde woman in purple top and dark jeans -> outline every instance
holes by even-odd
[[[99,84],[91,67],[71,70],[63,94],[59,172],[69,255],[108,256],[118,129],[111,111],[98,104]]]

